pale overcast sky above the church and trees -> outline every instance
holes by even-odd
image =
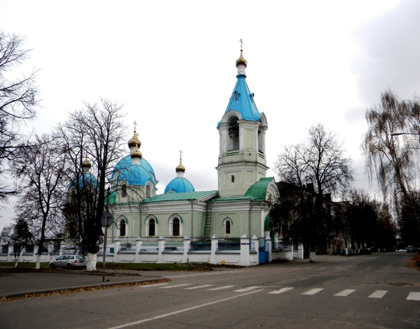
[[[388,86],[401,98],[420,90],[419,17],[417,0],[0,2],[0,29],[32,49],[24,70],[40,70],[37,132],[83,102],[118,101],[127,140],[138,123],[161,192],[181,149],[185,178],[217,189],[216,124],[236,83],[240,38],[268,120],[267,165],[321,122],[344,141],[354,184],[367,189],[365,111]],[[0,229],[12,215],[0,209]]]

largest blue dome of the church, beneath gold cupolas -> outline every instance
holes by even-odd
[[[141,158],[140,165],[132,164],[131,156],[122,158],[112,171],[111,179],[117,179],[117,182],[125,181],[128,185],[145,185],[150,181],[155,185],[156,176],[152,166],[144,158]]]

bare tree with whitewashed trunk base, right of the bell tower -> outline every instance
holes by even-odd
[[[322,124],[308,130],[306,143],[286,147],[276,162],[276,174],[281,181],[300,188],[313,184],[314,200],[311,211],[306,212],[302,229],[309,230],[309,261],[315,261],[316,246],[325,243],[332,229],[327,195],[346,187],[352,181],[351,160],[344,156],[343,145],[336,135]]]

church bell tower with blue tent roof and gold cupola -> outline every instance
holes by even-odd
[[[242,41],[241,41],[242,42]],[[243,196],[266,176],[265,132],[267,120],[258,112],[250,92],[241,55],[236,61],[237,81],[229,104],[217,124],[219,131],[218,191],[220,197]]]

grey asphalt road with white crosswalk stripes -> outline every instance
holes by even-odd
[[[0,328],[420,328],[412,255],[317,256],[0,304]]]

